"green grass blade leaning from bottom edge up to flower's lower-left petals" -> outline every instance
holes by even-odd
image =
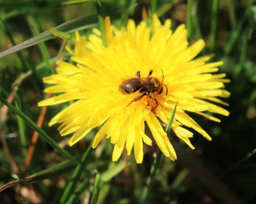
[[[76,169],[73,171],[72,175],[70,176],[70,179],[68,180],[68,184],[65,187],[65,190],[61,196],[60,203],[67,202],[68,197],[74,192],[74,188],[81,177],[81,173],[83,172],[84,166],[86,165],[86,161],[88,160],[88,156],[90,155],[91,150],[92,150],[92,143],[89,145],[86,152],[84,152],[84,155],[80,163],[77,165]]]

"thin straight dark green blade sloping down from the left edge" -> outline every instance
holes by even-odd
[[[46,142],[48,142],[54,149],[58,150],[64,157],[66,157],[67,159],[70,159],[74,163],[78,163],[77,160],[73,156],[71,156],[65,149],[62,149],[60,147],[60,145],[58,145],[58,143],[56,143],[54,140],[52,140],[51,136],[47,135],[47,133],[45,133],[45,131],[43,129],[39,128],[35,124],[35,122],[28,117],[28,115],[21,112],[19,109],[17,109],[11,103],[8,103],[8,101],[3,99],[1,96],[0,96],[0,101],[2,103],[4,103],[4,105],[8,106],[8,108],[10,108],[10,110],[12,110],[14,113],[19,115],[19,117],[21,117],[36,132],[38,132],[39,135],[42,136],[42,138],[44,138],[44,140]]]

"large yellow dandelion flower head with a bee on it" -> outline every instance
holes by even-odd
[[[130,155],[132,147],[137,163],[143,161],[143,143],[157,143],[163,154],[175,160],[175,150],[164,129],[177,101],[172,129],[189,147],[195,129],[207,140],[211,137],[189,115],[197,113],[220,122],[209,112],[228,115],[227,110],[214,103],[227,105],[220,97],[228,97],[223,90],[225,74],[212,75],[222,62],[205,64],[209,56],[196,58],[204,48],[198,40],[188,46],[184,25],[172,33],[171,21],[161,24],[154,15],[152,25],[142,21],[136,26],[129,20],[126,28],[116,29],[106,18],[104,47],[100,31],[85,38],[76,34],[76,47],[71,60],[57,62],[57,73],[45,77],[52,84],[45,92],[61,92],[45,99],[39,106],[74,101],[52,118],[49,125],[60,123],[61,136],[74,133],[69,144],[74,145],[93,128],[101,126],[93,141],[93,148],[106,136],[114,145],[113,161],[121,156],[124,147]],[[205,113],[207,111],[207,113]],[[145,123],[152,137],[145,134]]]

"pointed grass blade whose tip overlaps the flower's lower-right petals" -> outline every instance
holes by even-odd
[[[175,105],[175,108],[173,109],[172,115],[171,115],[170,120],[168,122],[168,125],[166,126],[166,129],[165,129],[167,135],[170,135],[170,131],[171,131],[171,128],[172,128],[174,117],[175,117],[177,105],[178,105],[178,101]],[[142,196],[141,196],[141,202],[140,202],[142,204],[147,203],[148,193],[151,189],[153,180],[154,180],[155,175],[156,175],[156,171],[159,169],[159,166],[160,166],[162,160],[163,160],[163,154],[162,154],[161,150],[158,150],[157,151],[157,156],[154,159],[154,162],[153,162],[153,164],[150,168],[150,173],[149,173],[148,179],[146,181],[146,186],[143,189],[143,193],[142,193]]]

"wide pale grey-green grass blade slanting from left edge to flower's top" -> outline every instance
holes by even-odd
[[[90,15],[88,17],[82,17],[82,18],[76,18],[74,20],[70,20],[61,25],[58,25],[54,29],[65,32],[65,33],[72,33],[74,31],[90,29],[95,26],[97,26],[97,15]],[[24,48],[31,47],[43,41],[51,40],[52,38],[55,38],[55,36],[54,34],[51,33],[51,31],[44,31],[43,33],[37,34],[33,38],[29,38],[28,40],[23,41],[22,43],[12,48],[9,48],[8,50],[5,50],[4,52],[1,52],[0,57],[10,55],[13,52],[17,52]]]

